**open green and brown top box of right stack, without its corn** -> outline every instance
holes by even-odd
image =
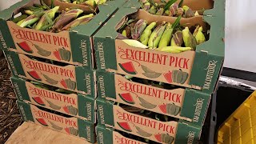
[[[210,39],[198,45],[195,51],[190,50],[180,54],[137,48],[127,45],[120,39],[116,39],[118,33],[115,26],[126,15],[138,14],[138,18],[145,19],[148,23],[158,22],[158,24],[163,21],[173,23],[176,18],[152,15],[144,10],[130,8],[118,10],[102,26],[102,29],[94,35],[94,49],[98,70],[128,74],[138,78],[185,86],[212,94],[222,70],[225,52],[223,39],[225,13],[224,6],[220,6],[222,2],[222,0],[215,1],[214,6],[218,9],[212,10],[222,11],[222,16],[213,17],[206,15],[182,18],[181,24],[186,26],[194,26],[197,23],[204,23],[205,26],[209,24]],[[146,69],[142,67],[146,67]],[[158,78],[146,76],[147,70],[150,70],[150,73],[154,71],[161,75]],[[184,74],[188,74],[185,82],[173,82],[172,77],[180,78]]]

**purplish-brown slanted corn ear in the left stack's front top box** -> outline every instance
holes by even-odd
[[[83,10],[80,9],[67,11],[65,14],[62,14],[57,22],[54,23],[53,29],[58,31],[62,30],[64,26],[78,18],[78,15],[82,14],[82,12]]]

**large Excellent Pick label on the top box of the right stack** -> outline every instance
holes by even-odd
[[[115,40],[115,49],[118,73],[191,87],[189,82],[194,51],[170,54],[128,46],[122,40]]]

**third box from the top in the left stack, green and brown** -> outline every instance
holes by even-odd
[[[19,101],[82,118],[88,122],[96,122],[94,98],[76,93],[56,92],[58,88],[48,85],[38,86],[22,78],[11,77],[10,80]]]

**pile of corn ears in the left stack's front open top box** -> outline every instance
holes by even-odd
[[[41,5],[26,7],[21,11],[22,15],[14,18],[13,22],[18,26],[34,30],[60,32],[86,24],[94,17],[94,14],[83,14],[84,11],[80,9],[58,10],[59,6],[53,8]]]

